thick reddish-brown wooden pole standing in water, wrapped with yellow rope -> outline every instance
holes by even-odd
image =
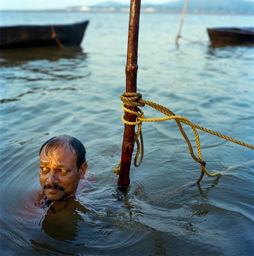
[[[139,16],[141,0],[131,0],[128,48],[126,62],[126,92],[137,92],[137,73],[138,73],[138,38],[139,38]],[[136,107],[127,106],[129,109],[136,110]],[[136,116],[124,112],[127,121],[135,122]],[[123,145],[120,174],[118,186],[127,189],[130,185],[130,166],[131,157],[134,149],[135,126],[124,124]]]

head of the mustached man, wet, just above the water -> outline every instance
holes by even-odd
[[[75,196],[87,169],[83,144],[69,135],[46,141],[40,149],[40,184],[45,196],[59,201]]]

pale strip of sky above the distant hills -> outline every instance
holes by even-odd
[[[130,4],[130,0],[111,0],[118,3]],[[142,0],[142,3],[168,3],[173,0]],[[0,8],[6,9],[61,9],[75,5],[93,5],[106,0],[0,0]]]

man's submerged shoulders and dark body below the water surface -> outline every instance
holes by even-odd
[[[41,189],[33,191],[22,202],[17,218],[25,222],[38,219],[47,236],[58,241],[71,240],[77,236],[82,216],[91,212],[90,205],[83,203],[79,195],[93,190],[95,181],[93,175],[88,175],[85,181],[79,182],[77,196],[58,201],[49,200]],[[30,242],[38,243],[36,239]]]

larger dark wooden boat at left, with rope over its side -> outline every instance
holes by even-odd
[[[0,28],[0,47],[79,46],[88,20],[68,25],[21,25]]]

